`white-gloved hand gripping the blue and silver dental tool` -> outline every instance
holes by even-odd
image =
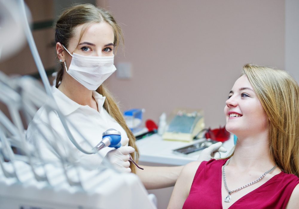
[[[111,162],[112,165],[114,165],[114,167],[117,170],[119,170],[121,172],[126,172],[126,173],[131,172],[131,168],[129,168],[129,166],[130,166],[129,153],[132,153],[135,151],[135,149],[133,147],[124,146],[128,142],[129,142],[129,139],[127,138],[126,140],[124,140],[122,142],[123,146],[121,146],[115,150],[110,150],[105,156],[106,158],[108,158],[109,162]]]

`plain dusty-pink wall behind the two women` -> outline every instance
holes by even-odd
[[[206,127],[225,125],[223,107],[245,63],[284,68],[284,1],[100,1],[121,23],[133,77],[106,82],[122,110],[145,119],[202,108]]]

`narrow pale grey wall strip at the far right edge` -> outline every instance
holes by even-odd
[[[299,1],[286,0],[285,69],[299,82]]]

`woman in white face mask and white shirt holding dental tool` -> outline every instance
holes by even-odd
[[[100,154],[119,170],[136,173],[147,189],[173,186],[183,166],[142,166],[144,170],[136,170],[129,162],[129,153],[135,152],[133,160],[139,156],[135,137],[111,94],[102,85],[116,70],[113,52],[116,52],[120,40],[123,41],[120,26],[109,11],[91,4],[77,4],[66,9],[56,23],[56,51],[61,69],[57,73],[56,86],[52,88],[54,99],[63,115],[72,122],[73,126],[69,127],[80,146],[90,149],[77,130],[95,146],[104,131],[114,128],[121,132],[121,143],[128,146],[106,147],[100,150]],[[46,143],[39,140],[42,134],[46,136],[50,132],[49,125],[56,138],[71,147],[70,150],[61,147],[61,150],[71,153],[72,160],[84,163],[90,169],[100,166],[102,159],[80,152],[69,140],[58,116],[55,113],[47,116],[41,107],[28,127],[27,138],[39,147],[43,158],[55,158]],[[199,160],[209,160],[214,152],[222,151],[220,146],[218,143],[207,148]]]

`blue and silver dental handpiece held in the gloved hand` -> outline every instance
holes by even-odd
[[[102,141],[100,143],[98,143],[93,149],[99,151],[107,146],[115,147],[115,149],[117,149],[117,148],[121,147],[120,140],[121,140],[120,131],[110,128],[110,129],[106,130],[105,132],[103,132]],[[137,163],[135,163],[133,161],[131,154],[129,154],[129,156],[130,156],[129,161],[134,163],[136,165],[136,167],[138,167],[139,169],[144,170],[142,167],[139,167],[137,165]]]

